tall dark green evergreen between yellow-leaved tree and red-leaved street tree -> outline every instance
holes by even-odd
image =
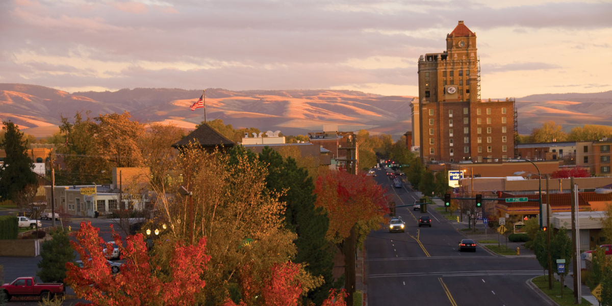
[[[267,164],[268,176],[266,185],[271,192],[282,192],[281,201],[287,203],[285,211],[286,228],[297,234],[294,242],[297,247],[295,261],[306,263],[306,270],[312,275],[322,275],[323,285],[308,293],[316,305],[320,305],[327,297],[332,286],[334,267],[334,252],[325,239],[329,220],[323,208],[315,207],[315,185],[304,168],[296,164],[296,160],[283,157],[270,147],[265,147],[259,154],[259,160]]]

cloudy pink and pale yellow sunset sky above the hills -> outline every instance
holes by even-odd
[[[483,99],[612,90],[612,0],[0,0],[0,83],[417,95],[459,20]]]

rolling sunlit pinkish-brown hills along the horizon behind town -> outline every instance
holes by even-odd
[[[77,111],[91,116],[129,111],[140,122],[172,122],[191,130],[204,121],[204,109],[189,106],[198,90],[168,88],[121,89],[69,94],[44,86],[0,84],[0,119],[13,121],[28,134],[49,136]],[[206,118],[222,119],[234,128],[280,130],[284,135],[320,132],[324,125],[340,131],[366,129],[398,139],[411,130],[411,96],[383,96],[359,91],[206,89]],[[568,130],[584,124],[609,125],[612,91],[595,94],[543,94],[518,98],[518,132],[530,133],[553,120]]]

